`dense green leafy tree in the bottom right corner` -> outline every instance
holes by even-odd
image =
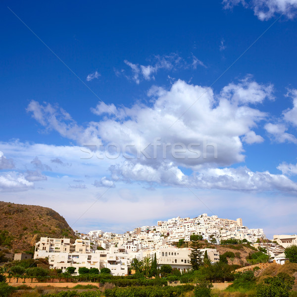
[[[267,277],[264,283],[256,288],[257,297],[289,297],[294,285],[294,276],[281,272],[277,276]]]

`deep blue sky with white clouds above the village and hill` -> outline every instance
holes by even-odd
[[[0,5],[2,200],[296,233],[296,0]]]

